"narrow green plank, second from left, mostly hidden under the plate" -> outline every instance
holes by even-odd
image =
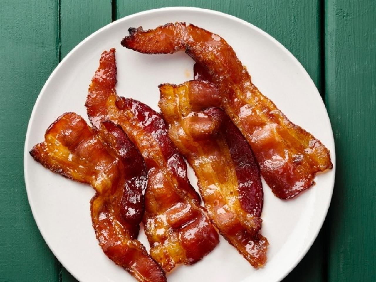
[[[111,17],[110,0],[60,0],[60,59],[91,33],[111,23]],[[61,266],[60,282],[74,281]]]

